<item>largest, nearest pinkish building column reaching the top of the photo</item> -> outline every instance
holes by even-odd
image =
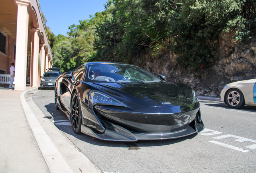
[[[30,2],[14,0],[17,5],[16,60],[15,60],[15,90],[26,89],[27,74],[27,42],[29,30]]]

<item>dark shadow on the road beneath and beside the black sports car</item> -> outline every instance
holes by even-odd
[[[45,105],[45,108],[47,111],[52,115],[45,116],[45,118],[58,121],[60,119],[68,120],[68,117],[61,111],[56,110],[54,103],[50,103],[48,105]],[[86,143],[90,143],[92,145],[99,145],[99,146],[105,146],[105,147],[128,147],[129,149],[138,149],[136,147],[152,147],[152,146],[163,146],[163,145],[172,145],[175,143],[180,143],[182,141],[190,140],[196,137],[197,134],[189,135],[186,137],[181,137],[177,139],[164,139],[164,140],[145,140],[145,141],[135,141],[135,142],[120,142],[120,141],[104,141],[100,140],[85,134],[76,134],[72,130],[71,126],[68,125],[55,125],[60,131],[63,133],[66,133],[68,135],[71,135],[75,137],[76,139],[79,139],[81,141],[84,141]],[[70,139],[72,141],[72,139]]]

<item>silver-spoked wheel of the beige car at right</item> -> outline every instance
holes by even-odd
[[[229,107],[240,109],[244,107],[244,95],[239,89],[230,89],[226,94],[226,103]]]

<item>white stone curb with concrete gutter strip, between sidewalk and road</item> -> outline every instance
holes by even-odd
[[[83,153],[76,149],[50,119],[45,119],[45,114],[35,104],[32,97],[25,99],[26,95],[37,91],[38,88],[25,91],[21,94],[20,99],[29,126],[50,172],[101,173]]]

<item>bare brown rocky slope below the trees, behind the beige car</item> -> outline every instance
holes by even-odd
[[[197,95],[220,97],[225,84],[256,78],[256,41],[240,44],[233,39],[233,34],[222,33],[219,40],[209,43],[214,58],[210,65],[196,71],[177,64],[172,52],[161,58],[145,56],[140,66],[153,74],[165,75],[167,82],[188,84]]]

